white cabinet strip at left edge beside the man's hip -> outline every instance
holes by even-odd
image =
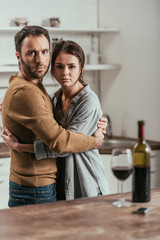
[[[10,158],[0,158],[0,209],[8,208]]]

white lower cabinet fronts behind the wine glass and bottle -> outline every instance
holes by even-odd
[[[120,193],[120,186],[117,178],[111,170],[111,154],[101,154],[104,170],[108,176],[110,194]],[[160,150],[151,152],[151,188],[160,187]],[[132,175],[124,181],[123,192],[132,191]]]

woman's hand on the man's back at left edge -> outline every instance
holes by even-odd
[[[4,128],[1,137],[9,148],[18,150],[18,139],[7,128]]]

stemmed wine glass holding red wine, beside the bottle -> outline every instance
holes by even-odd
[[[120,181],[121,197],[112,204],[116,207],[129,207],[131,202],[125,201],[123,197],[123,182],[126,180],[133,170],[133,158],[131,149],[115,148],[111,155],[111,169],[116,178]]]

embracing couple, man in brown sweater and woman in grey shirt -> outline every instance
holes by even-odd
[[[19,72],[2,104],[2,138],[11,149],[9,207],[109,193],[98,152],[107,122],[96,94],[83,81],[85,56],[59,41],[50,56],[48,31],[26,26],[15,35]],[[50,99],[42,81],[61,88]]]

